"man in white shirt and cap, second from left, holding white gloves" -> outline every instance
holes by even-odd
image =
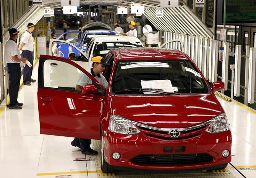
[[[21,57],[26,58],[32,67],[26,65],[23,69],[23,83],[24,85],[31,85],[31,82],[36,82],[36,80],[31,78],[33,71],[33,50],[34,50],[34,38],[32,32],[35,29],[35,25],[28,23],[28,30],[24,32],[22,36],[21,43],[19,44],[19,50],[22,50]]]

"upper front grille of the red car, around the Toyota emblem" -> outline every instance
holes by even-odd
[[[169,131],[172,129],[167,129],[167,128],[155,128],[155,127],[150,127],[147,125],[143,124],[135,124],[138,129],[144,133],[147,137],[150,138],[157,138],[157,139],[163,139],[163,140],[181,140],[181,139],[189,139],[189,138],[194,138],[197,136],[200,136],[208,127],[208,124],[206,125],[199,125],[198,127],[194,127],[192,129],[189,128],[177,128],[180,130],[180,136],[177,138],[172,138],[169,135]]]

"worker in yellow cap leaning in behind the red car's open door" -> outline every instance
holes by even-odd
[[[91,70],[87,70],[94,78],[99,81],[99,83],[107,89],[109,83],[102,75],[102,72],[105,70],[105,66],[109,66],[106,60],[103,57],[96,56],[92,58],[92,68]],[[79,74],[78,82],[76,84],[76,90],[81,90],[81,87],[87,84],[92,84],[92,79],[89,78],[85,73]],[[96,150],[91,149],[90,147],[91,139],[84,138],[74,138],[71,141],[71,145],[75,147],[79,147],[81,149],[82,154],[87,155],[97,155],[98,152]]]

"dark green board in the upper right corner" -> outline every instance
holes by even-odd
[[[227,0],[226,21],[256,22],[256,0]]]

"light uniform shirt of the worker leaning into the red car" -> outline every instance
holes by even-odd
[[[94,76],[94,78],[104,87],[104,89],[107,88],[109,83],[107,82],[107,80],[105,79],[105,77],[102,74],[98,74],[96,76],[94,74],[92,68],[91,68],[91,70],[86,70],[86,71],[89,72],[90,74],[92,74],[92,76]],[[84,86],[84,85],[88,85],[88,84],[92,84],[92,79],[89,78],[84,73],[79,74],[77,85]]]

